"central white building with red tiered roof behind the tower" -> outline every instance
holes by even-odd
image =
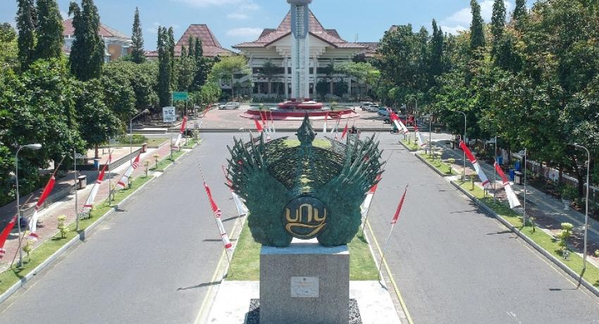
[[[327,82],[328,94],[333,93],[335,83],[345,82],[348,85],[346,95],[354,95],[359,91],[359,83],[348,75],[331,74],[328,66],[351,62],[359,54],[371,52],[370,43],[347,42],[335,29],[326,29],[312,11],[309,11],[309,88],[314,96],[316,83]],[[288,97],[291,94],[291,12],[276,28],[266,28],[258,39],[233,46],[247,56],[252,68],[256,97]],[[264,63],[271,62],[276,66],[276,75],[264,75]],[[353,90],[352,90],[353,89]]]

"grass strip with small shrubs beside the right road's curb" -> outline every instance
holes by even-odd
[[[534,242],[536,242],[536,244],[543,247],[543,249],[547,250],[550,254],[552,254],[552,256],[555,256],[555,258],[562,261],[562,263],[574,270],[575,273],[580,274],[582,272],[582,256],[572,253],[570,254],[569,260],[565,260],[562,258],[560,247],[557,245],[557,241],[555,241],[551,235],[548,235],[546,232],[538,229],[533,232],[532,226],[522,227],[522,217],[518,213],[512,211],[510,206],[507,206],[507,204],[504,204],[501,201],[495,203],[493,201],[493,197],[485,198],[483,189],[474,187],[474,190],[471,190],[470,182],[464,182],[461,186],[464,189],[467,189],[474,197],[483,201],[489,208],[493,209],[495,213],[498,213],[515,228],[520,228],[524,235],[532,239]],[[599,287],[599,269],[593,266],[592,263],[587,262],[586,272],[584,273],[583,278],[586,281],[591,282],[593,286]]]

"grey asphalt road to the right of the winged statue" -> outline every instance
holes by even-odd
[[[369,222],[379,242],[409,189],[386,257],[414,323],[598,323],[598,299],[486,216],[397,135]],[[382,243],[381,243],[382,244]]]

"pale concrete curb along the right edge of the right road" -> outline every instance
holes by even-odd
[[[555,263],[556,266],[558,266],[562,270],[564,270],[565,273],[567,273],[572,278],[574,278],[576,281],[578,281],[581,285],[583,285],[584,287],[586,287],[586,289],[588,289],[590,292],[592,292],[593,294],[595,294],[595,296],[599,297],[599,289],[597,289],[597,287],[593,286],[590,282],[586,281],[584,278],[581,278],[581,276],[578,273],[575,273],[574,270],[570,269],[568,266],[566,266],[558,258],[556,258],[552,254],[550,254],[547,250],[543,249],[543,247],[541,247],[540,245],[536,244],[536,242],[534,242],[532,239],[530,239],[526,235],[522,234],[522,232],[520,230],[518,230],[517,228],[515,228],[514,225],[510,224],[510,222],[508,222],[507,220],[505,220],[505,218],[503,218],[502,216],[500,216],[498,213],[495,213],[495,211],[493,211],[493,209],[489,208],[480,199],[474,197],[466,189],[464,189],[463,187],[461,187],[457,182],[455,182],[453,180],[450,181],[450,182],[460,192],[462,192],[467,197],[469,197],[472,201],[474,201],[474,203],[477,206],[481,207],[481,209],[483,209],[483,211],[485,211],[485,213],[487,213],[488,215],[493,216],[494,218],[496,218],[497,220],[499,220],[500,223],[502,223],[503,225],[505,225],[505,227],[509,228],[516,235],[518,235],[519,237],[521,237],[522,239],[524,239],[524,241],[526,241],[526,243],[530,244],[537,251],[539,251],[541,254],[543,254],[543,256],[545,256],[550,261],[552,261],[553,263]]]

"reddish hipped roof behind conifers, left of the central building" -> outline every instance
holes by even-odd
[[[204,57],[214,58],[215,56],[230,56],[235,52],[225,49],[218,42],[210,28],[206,24],[193,24],[187,27],[187,30],[181,35],[177,44],[175,44],[175,56],[181,56],[181,48],[185,46],[189,50],[190,36],[193,39],[199,38],[202,40],[202,50]],[[147,51],[145,56],[149,59],[157,59],[158,51]]]

